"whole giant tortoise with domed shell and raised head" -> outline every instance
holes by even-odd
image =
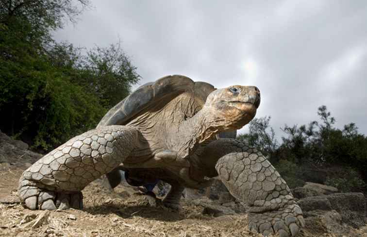
[[[143,85],[118,103],[98,127],[46,154],[19,180],[29,209],[83,208],[81,190],[102,175],[112,187],[129,170],[142,183],[161,179],[172,188],[163,203],[179,209],[184,187],[200,188],[219,176],[246,203],[249,229],[267,236],[296,236],[302,211],[279,173],[244,142],[219,138],[255,116],[254,86],[215,89],[174,75]]]

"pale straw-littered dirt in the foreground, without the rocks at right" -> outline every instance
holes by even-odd
[[[31,211],[17,198],[17,183],[25,165],[0,163],[0,236],[11,237],[257,237],[247,229],[247,215],[212,217],[202,207],[183,202],[180,212],[162,205],[150,207],[131,187],[114,192],[95,181],[83,190],[83,210]],[[367,228],[353,234],[367,236]],[[315,236],[304,229],[300,237]],[[318,235],[319,236],[319,235]],[[335,235],[324,234],[324,237]]]

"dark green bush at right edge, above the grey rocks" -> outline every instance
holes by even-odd
[[[314,163],[352,166],[362,171],[367,168],[367,138],[358,133],[354,123],[335,128],[335,119],[326,106],[318,108],[321,123],[313,121],[306,128],[284,126],[281,151],[295,158],[297,164]],[[289,154],[290,153],[290,154]],[[284,157],[283,157],[284,158]]]

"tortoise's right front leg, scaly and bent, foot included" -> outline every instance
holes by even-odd
[[[296,236],[304,219],[284,179],[256,149],[234,139],[211,142],[206,154],[217,156],[216,169],[230,193],[249,209],[249,229],[264,236]]]

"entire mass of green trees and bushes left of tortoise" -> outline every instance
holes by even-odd
[[[139,80],[119,43],[83,55],[51,39],[88,3],[0,0],[0,129],[34,148],[50,150],[94,128]]]

